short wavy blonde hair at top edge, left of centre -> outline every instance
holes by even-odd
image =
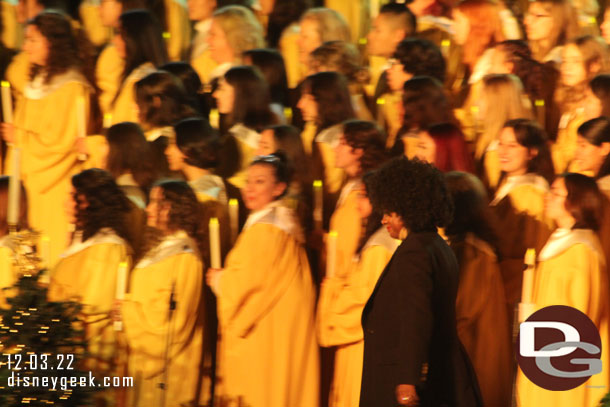
[[[242,54],[254,48],[264,48],[263,27],[252,11],[243,6],[226,6],[213,15],[227,37],[235,62],[241,62]]]

